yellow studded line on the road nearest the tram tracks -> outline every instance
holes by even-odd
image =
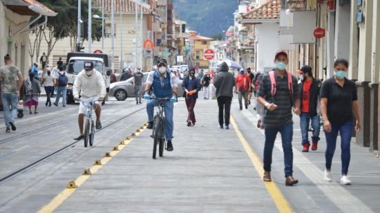
[[[146,124],[144,124],[140,129],[138,135],[142,133],[146,129]],[[137,136],[137,135],[136,135]],[[90,169],[85,169],[84,174],[79,176],[75,180],[70,180],[68,183],[68,186],[66,189],[62,190],[53,198],[53,200],[50,201],[47,205],[44,205],[41,207],[41,209],[38,211],[38,213],[45,213],[45,212],[54,212],[57,207],[59,207],[64,201],[67,200],[76,190],[78,187],[80,187],[83,183],[90,178],[91,175],[95,174],[99,169],[101,169],[104,165],[106,165],[112,158],[117,156],[117,154],[122,151],[126,147],[126,145],[129,145],[131,143],[133,138],[126,137],[122,142],[120,142],[116,147],[113,148],[113,150],[108,151],[106,153],[106,156],[104,156],[102,159],[95,160],[94,165]]]

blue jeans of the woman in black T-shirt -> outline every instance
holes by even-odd
[[[325,152],[326,169],[331,169],[332,157],[334,156],[336,148],[336,138],[338,132],[341,133],[341,160],[342,160],[342,174],[348,173],[348,166],[350,165],[350,143],[352,137],[352,130],[354,129],[354,122],[345,122],[344,124],[331,124],[331,132],[325,131],[327,148]]]

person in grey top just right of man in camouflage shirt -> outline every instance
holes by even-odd
[[[38,81],[35,79],[35,73],[29,73],[25,80],[26,86],[26,106],[29,107],[29,113],[32,114],[32,106],[35,106],[35,114],[38,114],[38,97],[41,94]]]

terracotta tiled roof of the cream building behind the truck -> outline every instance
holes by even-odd
[[[102,8],[102,0],[95,0],[95,7]],[[120,10],[122,13],[133,13],[135,12],[135,3],[131,0],[113,0],[113,11],[117,13]],[[141,11],[140,6],[137,11]],[[144,8],[143,11],[150,12],[151,10]],[[104,12],[111,13],[111,0],[104,0]]]

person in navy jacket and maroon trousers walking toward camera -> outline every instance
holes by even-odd
[[[184,90],[184,98],[186,98],[186,107],[189,115],[187,115],[187,127],[193,127],[196,124],[196,115],[194,107],[198,98],[198,91],[201,89],[200,80],[196,77],[196,69],[190,68],[189,76],[185,77],[182,82]]]

